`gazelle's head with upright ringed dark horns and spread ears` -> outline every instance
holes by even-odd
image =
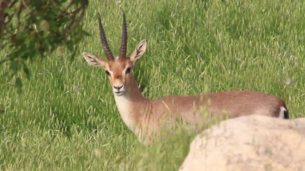
[[[128,88],[130,88],[130,78],[133,78],[133,73],[131,72],[131,69],[135,64],[135,61],[143,55],[146,49],[146,40],[141,40],[140,43],[137,44],[133,52],[130,54],[130,56],[126,56],[127,27],[125,14],[123,12],[122,41],[120,46],[120,52],[119,56],[114,57],[107,43],[107,38],[99,14],[98,21],[100,38],[103,44],[105,55],[108,59],[103,60],[97,57],[96,55],[87,52],[83,52],[83,56],[90,65],[104,68],[112,86],[113,93],[115,95],[120,96],[124,94],[124,92],[126,92]]]

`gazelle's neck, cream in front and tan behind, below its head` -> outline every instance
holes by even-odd
[[[146,99],[142,96],[133,73],[130,73],[130,79],[128,81],[126,92],[121,96],[114,94],[114,99],[124,123],[134,133],[137,133],[137,125],[140,117],[140,111],[137,108],[142,108],[141,106],[145,105]]]

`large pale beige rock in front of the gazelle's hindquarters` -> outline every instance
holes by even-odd
[[[197,135],[180,170],[305,170],[305,117],[223,120]]]

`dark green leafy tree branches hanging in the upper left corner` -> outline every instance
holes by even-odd
[[[21,69],[29,77],[27,59],[44,58],[58,46],[65,45],[73,57],[78,41],[87,35],[79,24],[87,4],[87,0],[0,0],[0,48],[7,49],[0,65],[5,61],[10,65],[3,75],[12,77]],[[16,84],[21,83],[16,77]]]

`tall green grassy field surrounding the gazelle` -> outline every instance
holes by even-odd
[[[100,12],[118,54],[121,9],[128,54],[147,50],[134,72],[147,98],[252,89],[282,97],[290,117],[305,116],[305,2],[302,0],[90,0],[92,36],[74,60],[60,50],[30,64],[22,94],[0,78],[0,170],[177,170],[195,132],[140,144],[116,109],[106,74],[83,51],[105,57]],[[9,49],[2,49],[3,56]],[[0,67],[0,73],[6,69]],[[171,86],[169,86],[171,85]]]

